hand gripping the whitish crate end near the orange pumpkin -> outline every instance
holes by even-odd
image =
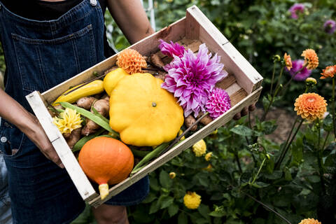
[[[41,153],[45,155],[46,158],[55,162],[55,164],[61,168],[64,168],[62,161],[59,159],[54,146],[50,143],[47,135],[45,134],[41,124],[38,122],[37,118],[33,115],[35,120],[34,127],[29,128],[29,131],[23,130],[27,137],[40,149]]]

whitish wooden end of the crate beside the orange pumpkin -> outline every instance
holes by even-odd
[[[45,134],[47,134],[52,146],[54,146],[57,155],[59,155],[66,171],[80,193],[80,196],[83,197],[83,200],[85,200],[87,198],[92,198],[92,195],[97,195],[90,181],[80,168],[80,165],[71,152],[68,144],[66,144],[61,132],[59,132],[57,127],[52,124],[52,118],[48,113],[48,110],[45,108],[43,100],[41,99],[41,94],[34,91],[27,95],[26,98],[31,106],[31,109],[34,111],[36,118],[41,123]]]

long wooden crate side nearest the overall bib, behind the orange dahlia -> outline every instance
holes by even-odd
[[[144,38],[142,41],[134,43],[134,45],[131,45],[129,48],[138,50],[142,55],[149,55],[151,52],[155,52],[158,50],[160,39],[165,39],[169,41],[170,40],[178,41],[179,39],[183,38],[183,36],[186,35],[185,20],[186,18],[182,18],[181,20],[174,22],[172,25],[169,25],[168,27],[161,29],[155,34],[152,34],[151,36]],[[99,74],[103,74],[104,71],[110,69],[112,66],[116,64],[117,56],[118,54],[113,55],[105,59],[104,61],[99,62],[98,64],[90,67],[89,69],[82,71],[78,75],[73,76],[68,80],[65,80],[63,83],[60,83],[55,87],[52,87],[50,90],[43,92],[42,95],[45,101],[48,103],[54,102],[55,99],[57,99],[57,97],[59,97],[60,94],[62,94],[66,90],[69,90],[70,87],[84,83],[85,81],[91,80],[92,78],[96,78],[93,75],[94,71]]]

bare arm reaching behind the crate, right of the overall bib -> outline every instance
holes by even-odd
[[[139,0],[108,0],[109,11],[130,43],[153,34],[144,7]]]

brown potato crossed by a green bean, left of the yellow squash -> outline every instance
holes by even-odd
[[[93,108],[96,109],[98,113],[100,113],[102,116],[106,118],[107,115],[109,114],[110,109],[109,101],[107,101],[106,99],[99,99],[96,102],[94,102]],[[91,112],[93,113],[93,110],[91,110]],[[83,127],[82,134],[85,136],[92,134],[97,130],[99,130],[99,127],[100,126],[94,123],[92,120],[87,119],[87,123]]]

